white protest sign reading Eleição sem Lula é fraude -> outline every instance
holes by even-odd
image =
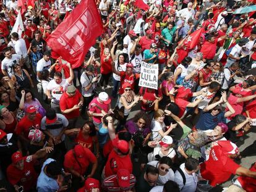
[[[142,61],[139,86],[158,89],[158,64],[147,64]]]

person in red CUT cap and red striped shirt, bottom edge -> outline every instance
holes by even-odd
[[[105,191],[132,191],[136,183],[134,175],[130,174],[126,169],[119,169],[117,175],[111,175],[105,178],[102,188]]]

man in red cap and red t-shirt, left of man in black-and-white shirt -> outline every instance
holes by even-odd
[[[22,141],[29,143],[28,133],[32,129],[40,129],[41,119],[41,115],[36,113],[35,106],[27,107],[26,115],[19,121],[15,133],[20,136]]]

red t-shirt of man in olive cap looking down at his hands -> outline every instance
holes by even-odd
[[[59,108],[61,111],[65,111],[66,109],[71,109],[75,105],[79,104],[80,98],[82,94],[79,90],[75,90],[74,96],[68,96],[66,91],[62,94],[61,99],[59,100]],[[75,109],[74,111],[64,114],[67,119],[73,119],[79,117],[79,109]]]

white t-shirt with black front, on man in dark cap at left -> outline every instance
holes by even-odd
[[[51,133],[51,135],[58,136],[59,133],[61,133],[62,129],[66,128],[67,125],[69,125],[69,121],[62,114],[56,114],[56,116],[57,116],[56,122],[51,124],[46,123],[46,116],[43,117],[43,119],[41,120],[41,130],[48,130]],[[62,135],[61,141],[64,141],[64,139],[65,139],[65,134]]]

